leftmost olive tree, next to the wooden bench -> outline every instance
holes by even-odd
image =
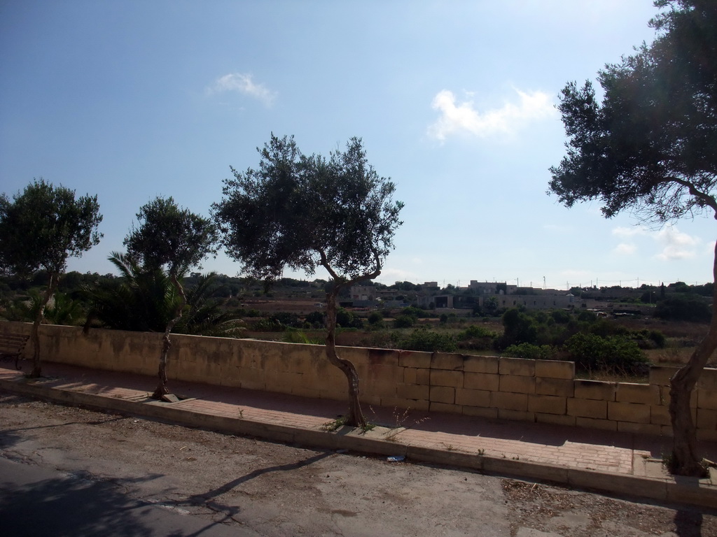
[[[80,257],[100,242],[101,221],[97,196],[75,198],[74,190],[55,187],[42,178],[12,200],[0,195],[0,269],[18,276],[44,270],[49,277],[32,324],[30,377],[42,374],[39,325],[67,269],[67,258]]]

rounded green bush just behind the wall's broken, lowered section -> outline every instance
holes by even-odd
[[[584,371],[642,374],[647,369],[647,359],[640,347],[625,336],[601,337],[581,332],[565,342],[565,349],[569,359]]]

